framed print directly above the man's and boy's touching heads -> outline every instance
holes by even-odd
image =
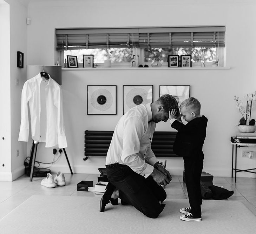
[[[159,97],[164,94],[174,96],[178,105],[190,96],[190,85],[159,85]]]

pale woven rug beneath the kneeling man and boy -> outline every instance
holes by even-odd
[[[166,199],[157,219],[130,205],[107,204],[99,212],[100,196],[31,196],[0,220],[3,234],[79,233],[255,233],[256,216],[239,201],[203,200],[202,221],[179,219],[188,200]]]

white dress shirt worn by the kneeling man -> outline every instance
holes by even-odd
[[[106,157],[106,165],[120,163],[147,178],[158,162],[151,150],[156,123],[152,120],[151,103],[127,111],[118,121]]]

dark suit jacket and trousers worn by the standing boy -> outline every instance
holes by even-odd
[[[203,144],[206,136],[208,119],[203,115],[186,125],[175,120],[171,127],[178,131],[173,151],[183,157],[186,187],[188,190],[191,213],[195,218],[202,215],[202,195],[200,179],[203,170]]]

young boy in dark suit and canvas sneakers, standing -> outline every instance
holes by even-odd
[[[208,119],[200,114],[201,104],[195,98],[184,100],[180,106],[180,114],[176,109],[169,112],[171,127],[178,131],[173,151],[183,157],[186,187],[189,195],[188,208],[181,208],[180,219],[185,221],[202,220],[202,195],[200,178],[203,169],[204,154],[202,151],[206,136]],[[188,122],[182,123],[181,116]]]

